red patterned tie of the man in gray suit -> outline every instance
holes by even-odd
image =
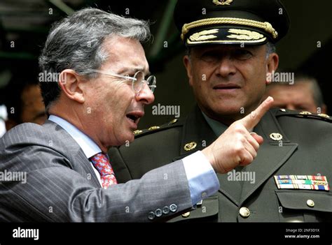
[[[95,154],[95,156],[90,157],[89,159],[100,174],[103,188],[106,189],[109,188],[109,186],[111,186],[112,184],[118,184],[111,163],[109,163],[109,158],[107,158],[105,154],[98,153]]]

